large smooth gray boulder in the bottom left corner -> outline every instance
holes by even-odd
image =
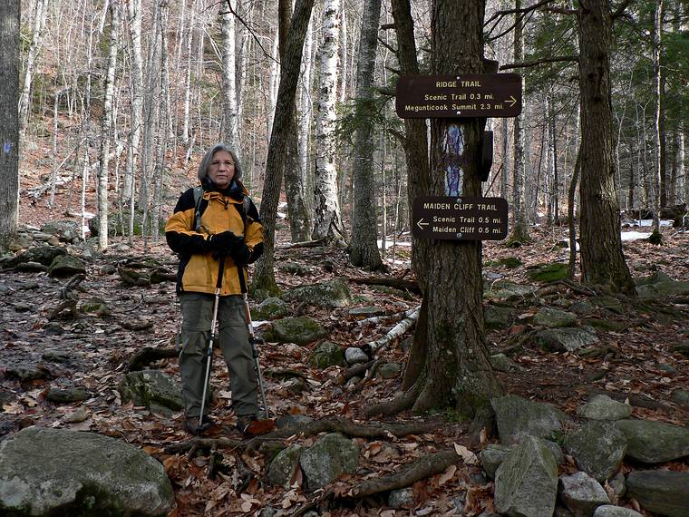
[[[28,427],[0,444],[0,513],[164,516],[173,502],[163,466],[119,440]]]

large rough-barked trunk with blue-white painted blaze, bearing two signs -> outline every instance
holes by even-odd
[[[434,2],[432,72],[482,73],[485,2]],[[480,196],[480,137],[485,120],[433,119],[429,196]],[[423,301],[428,354],[402,399],[416,411],[454,405],[465,415],[502,390],[484,344],[481,242],[431,240]],[[378,406],[380,409],[381,406]]]

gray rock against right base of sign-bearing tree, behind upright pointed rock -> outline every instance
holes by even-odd
[[[549,404],[532,402],[517,395],[490,400],[495,411],[500,442],[515,444],[526,435],[548,438],[562,430],[567,415]]]

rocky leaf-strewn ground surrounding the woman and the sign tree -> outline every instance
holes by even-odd
[[[27,231],[24,244],[34,246],[37,243],[32,239],[42,239],[65,246],[59,237],[43,233],[36,237],[35,232]],[[347,348],[380,339],[420,304],[412,288],[391,288],[367,279],[369,275],[349,266],[345,253],[337,249],[277,251],[277,281],[289,294],[282,302],[273,300],[279,318],[259,327],[259,333],[267,337],[267,345],[261,348],[267,402],[278,419],[277,431],[267,434],[271,440],[247,440],[234,430],[227,373],[219,357],[212,378],[213,414],[221,424],[211,431],[215,440],[195,442],[181,428],[179,405],[170,402],[179,382],[175,358],[144,361],[145,367],[157,369],[173,381],[160,388],[167,395],[154,397],[152,403],[136,396],[128,398],[131,393],[122,383],[131,376],[131,358],[145,346],[175,346],[179,310],[170,278],[176,258],[164,245],[144,250],[140,242],[129,246],[116,241],[105,255],[84,253],[82,247],[70,245],[70,253],[82,258],[82,276],[77,265],[68,266],[73,269],[62,275],[54,270],[49,273],[47,264],[42,267],[35,260],[33,265],[19,268],[5,262],[0,271],[4,302],[0,440],[37,425],[91,431],[133,444],[164,465],[175,493],[173,515],[487,516],[498,510],[508,512],[509,505],[519,506],[520,502],[499,496],[500,491],[528,494],[526,487],[509,484],[513,480],[507,479],[510,470],[519,472],[518,456],[544,465],[546,481],[537,481],[546,483],[548,490],[552,490],[553,479],[557,490],[558,474],[586,470],[568,439],[577,437],[589,419],[598,418],[587,414],[584,405],[591,397],[604,394],[613,399],[606,401],[605,411],[615,412],[617,406],[611,404],[617,401],[624,403],[623,411],[628,408],[632,418],[673,426],[648,431],[651,445],[638,445],[641,453],[630,453],[634,448],[630,444],[638,438],[636,431],[626,434],[629,444],[614,465],[616,476],[610,473],[610,483],[605,483],[606,477],[598,485],[607,490],[608,501],[630,512],[636,509],[653,515],[649,511],[653,508],[657,514],[687,515],[649,502],[643,491],[625,494],[619,485],[636,483],[631,473],[689,476],[689,234],[664,229],[660,247],[643,240],[626,241],[633,275],[645,278],[639,284],[639,298],[619,298],[559,282],[554,280],[557,268],[542,271],[542,265],[561,264],[567,258],[568,250],[558,247],[563,236],[563,229],[536,229],[536,239],[528,246],[506,249],[500,243],[486,243],[484,249],[490,325],[487,345],[497,375],[519,401],[548,403],[561,412],[553,417],[553,426],[531,430],[531,434],[553,441],[554,451],[560,451],[562,457],[544,453],[539,443],[522,440],[521,456],[505,455],[498,462],[511,462],[509,469],[502,470],[502,482],[500,471],[488,472],[492,466],[486,468],[490,462],[482,459],[481,451],[513,443],[506,431],[508,425],[517,429],[516,434],[522,428],[521,424],[508,424],[511,419],[497,408],[497,426],[486,421],[478,434],[472,434],[476,429],[454,411],[404,413],[384,419],[383,424],[364,416],[373,402],[399,392],[412,326],[375,356],[359,359],[375,362],[353,379],[347,378],[348,371],[354,373],[350,369],[353,364],[346,364],[342,356],[331,365],[333,360],[327,355],[315,355],[324,341],[334,343],[335,352],[342,354]],[[395,249],[397,260],[408,257],[408,247]],[[539,273],[546,276],[539,277]],[[393,267],[387,278],[412,280],[403,263]],[[341,285],[333,283],[335,279],[345,286],[344,294]],[[316,284],[321,286],[316,294],[295,290]],[[333,303],[335,298],[342,302]],[[260,301],[252,299],[251,304],[257,309]],[[266,313],[255,316],[267,320]],[[293,317],[301,318],[296,321],[297,329],[283,328]],[[306,337],[305,327],[313,332]],[[354,360],[354,352],[348,354]],[[516,404],[519,407],[521,402]],[[316,424],[309,424],[305,417],[315,419]],[[616,418],[629,420],[628,415]],[[295,422],[297,427],[284,431]],[[407,427],[401,429],[400,425]],[[335,432],[344,436],[345,443],[332,438],[334,449],[325,447],[324,433],[328,432],[331,434],[325,436]],[[675,447],[674,457],[644,455],[668,433],[672,435],[669,445],[662,442],[662,447]],[[325,452],[318,449],[321,446]],[[277,463],[270,462],[285,447],[297,451],[297,463],[301,451],[301,467],[296,468],[294,458],[282,454],[278,458],[286,471],[280,473]],[[315,457],[311,463],[316,466],[331,464],[333,455],[343,456],[343,461],[335,462],[337,468],[333,467],[340,474],[336,481],[327,475],[322,480],[317,477],[309,466],[309,454]],[[548,454],[556,463],[551,464]],[[345,461],[353,457],[358,461]],[[424,461],[432,463],[425,470]],[[400,482],[395,473],[409,465],[416,477]],[[392,476],[387,484],[386,475]],[[496,475],[498,481],[493,480]],[[577,495],[568,492],[568,483],[574,481],[560,480],[558,515],[579,511],[572,502]],[[678,504],[687,501],[686,486],[689,483],[684,492],[677,489],[679,492],[660,499],[678,497]],[[654,490],[660,493],[660,489]],[[593,506],[581,512],[590,515]]]

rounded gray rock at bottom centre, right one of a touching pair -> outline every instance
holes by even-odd
[[[359,447],[342,434],[325,434],[301,454],[299,464],[307,489],[317,490],[342,473],[354,473],[359,465]]]

